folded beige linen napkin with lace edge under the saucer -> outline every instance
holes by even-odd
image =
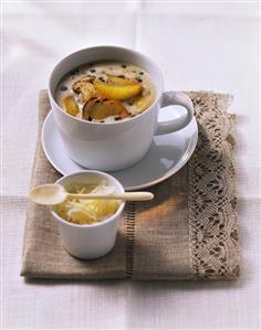
[[[199,125],[196,151],[178,173],[150,189],[155,200],[127,204],[112,253],[96,260],[72,257],[63,248],[49,210],[29,202],[22,276],[169,280],[238,276],[233,117],[227,113],[231,96],[188,95]],[[40,141],[49,110],[48,95],[42,91],[32,185],[60,177]]]

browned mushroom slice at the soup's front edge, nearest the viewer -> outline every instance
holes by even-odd
[[[102,120],[111,116],[126,118],[129,116],[128,111],[119,100],[103,100],[94,98],[85,103],[83,107],[83,118],[90,120]]]

